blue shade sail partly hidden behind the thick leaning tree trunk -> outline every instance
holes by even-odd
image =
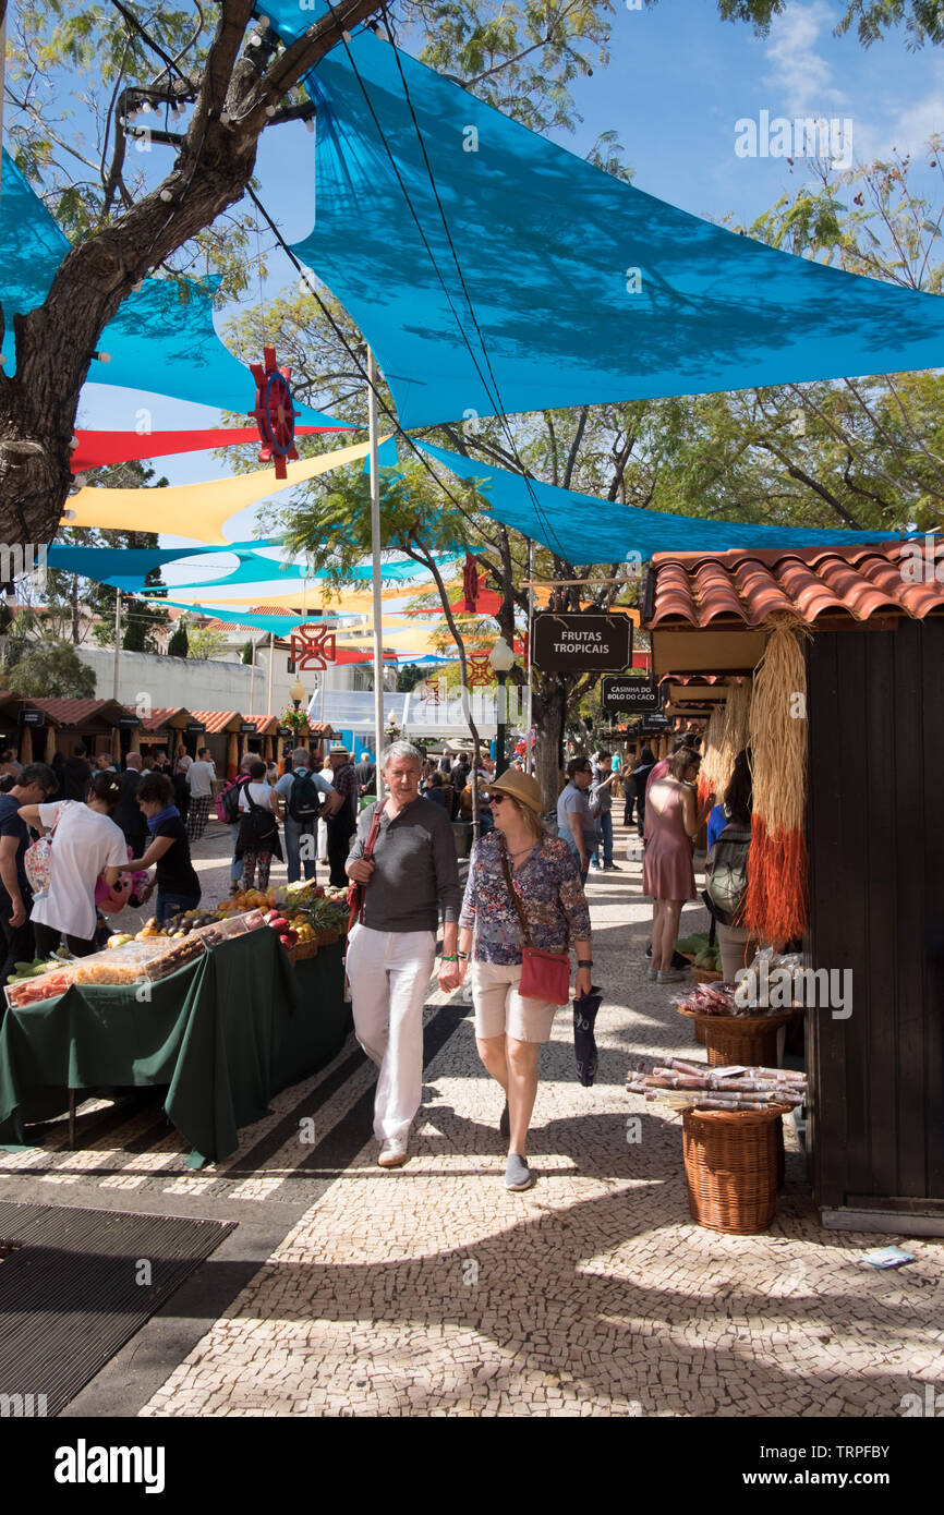
[[[17,356],[14,314],[26,315],[42,305],[68,250],[67,238],[5,152],[0,298],[8,374],[14,373]],[[214,294],[218,285],[217,277],[182,283],[145,279],[102,332],[98,351],[108,353],[111,362],[92,361],[89,382],[249,414],[256,403],[256,380],[217,336]],[[126,420],[133,424],[133,415]],[[297,406],[295,420],[300,426],[347,426],[305,405]]]

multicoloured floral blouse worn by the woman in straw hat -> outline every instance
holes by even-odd
[[[532,947],[565,951],[571,939],[589,938],[589,909],[567,842],[547,838],[520,868],[512,870],[511,859],[508,867]],[[499,832],[473,847],[459,927],[474,930],[473,956],[479,962],[521,962],[521,923],[505,882]]]

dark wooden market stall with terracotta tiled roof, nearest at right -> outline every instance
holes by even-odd
[[[852,974],[841,1011],[806,1011],[809,1171],[824,1224],[852,1230],[944,1235],[944,547],[935,562],[659,553],[644,595],[656,677],[750,677],[779,617],[802,645],[806,689],[783,700],[808,767],[803,948]]]

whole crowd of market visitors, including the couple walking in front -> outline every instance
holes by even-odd
[[[709,848],[721,841],[736,857],[750,841],[750,762],[741,753],[718,803],[699,806],[699,738],[679,735],[671,756],[656,762],[649,747],[624,767],[608,751],[576,756],[561,774],[556,812],[539,785],[514,762],[495,776],[477,771],[479,841],[465,889],[459,886],[452,823],[471,815],[471,767],[459,753],[427,759],[394,741],[380,756],[386,795],[376,800],[377,767],[358,765],[332,747],[321,771],[306,747],[285,771],[247,753],[223,788],[208,748],[197,759],[150,762],[129,753],[123,771],[111,753],[89,759],[77,744],[58,764],[29,764],[0,753],[0,929],[6,982],[14,962],[48,954],[62,941],[74,956],[95,950],[102,894],[121,903],[156,891],[155,915],[200,903],[191,845],[203,836],[211,804],[232,829],[230,888],[265,889],[273,859],[288,880],[317,876],[318,859],[333,885],[359,891],[347,948],[358,1039],[379,1067],[374,1135],[382,1167],[408,1157],[409,1130],[421,1100],[423,1003],[442,930],[438,982],[458,989],[467,974],[482,1062],[500,1085],[499,1127],[508,1141],[505,1183],[529,1188],[526,1144],[538,1089],[538,1054],[555,1012],[570,998],[570,953],[576,995],[591,991],[591,926],[585,883],[591,868],[617,871],[612,803],[624,792],[624,820],[644,839],[642,891],[653,901],[650,980],[676,983],[674,944],[685,901],[697,898],[694,838],[708,823]],[[30,856],[45,851],[39,862]],[[285,844],[285,850],[283,845]],[[733,851],[732,851],[733,848]],[[153,877],[148,870],[155,870]],[[39,877],[36,877],[36,874]],[[139,879],[147,876],[141,886]],[[115,906],[117,907],[117,906]],[[733,915],[714,912],[729,977],[747,951],[749,933]]]

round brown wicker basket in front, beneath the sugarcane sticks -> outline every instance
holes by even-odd
[[[786,1104],[768,1110],[685,1110],[682,1144],[688,1207],[708,1230],[767,1230],[783,1179]]]

